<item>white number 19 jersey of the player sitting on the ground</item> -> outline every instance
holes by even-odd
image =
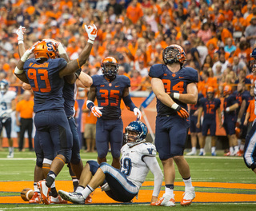
[[[155,146],[151,143],[144,142],[130,148],[126,144],[122,146],[121,153],[121,171],[139,189],[146,180],[146,175],[150,170],[143,161],[143,157],[155,157],[157,153]]]

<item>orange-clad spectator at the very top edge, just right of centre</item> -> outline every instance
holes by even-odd
[[[139,18],[142,18],[143,11],[141,4],[138,3],[138,0],[132,0],[130,5],[127,7],[126,16],[129,18],[134,24],[138,22]]]

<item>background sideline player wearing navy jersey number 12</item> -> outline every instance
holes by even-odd
[[[209,86],[206,91],[206,98],[202,98],[200,101],[200,108],[198,111],[198,123],[197,127],[200,127],[200,121],[202,117],[203,111],[203,121],[202,121],[202,145],[200,146],[200,156],[206,154],[205,145],[206,145],[206,136],[208,129],[210,129],[210,137],[211,137],[211,155],[216,156],[216,111],[218,111],[218,119],[222,119],[222,112],[220,109],[221,100],[218,98],[214,98],[214,88]],[[222,121],[219,121],[219,128],[222,127]]]

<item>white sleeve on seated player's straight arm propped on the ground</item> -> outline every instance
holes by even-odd
[[[158,165],[156,157],[146,156],[143,158],[143,161],[149,167],[150,171],[154,174],[154,191],[152,195],[154,197],[158,197],[162,187],[162,170]]]

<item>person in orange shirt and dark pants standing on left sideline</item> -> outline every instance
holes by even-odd
[[[33,112],[34,101],[30,99],[31,93],[29,90],[25,90],[23,94],[23,100],[18,102],[16,106],[16,124],[20,126],[20,136],[18,141],[18,150],[21,152],[23,149],[24,134],[27,131],[29,137],[30,151],[33,151],[32,144],[32,129],[33,129]],[[20,120],[18,118],[20,116]]]

